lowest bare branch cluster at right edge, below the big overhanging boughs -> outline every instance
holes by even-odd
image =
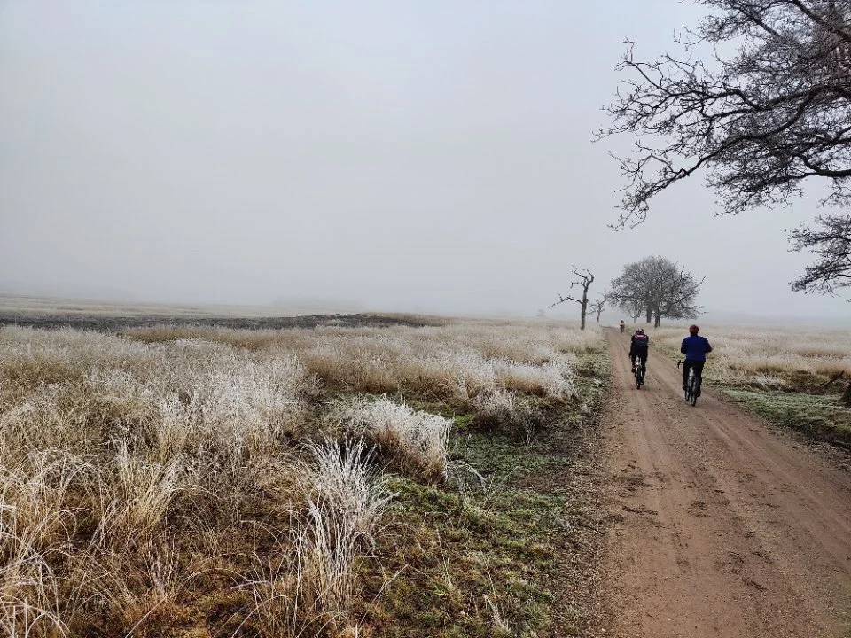
[[[792,290],[833,294],[851,286],[851,216],[820,215],[820,228],[801,226],[789,234],[796,251],[811,249],[818,261],[792,282]]]

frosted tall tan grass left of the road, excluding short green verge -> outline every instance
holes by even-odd
[[[454,421],[412,406],[528,435],[577,399],[574,362],[600,338],[558,323],[4,327],[0,632],[355,635],[388,473],[451,471]]]

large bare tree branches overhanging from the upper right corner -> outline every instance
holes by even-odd
[[[851,0],[699,1],[711,13],[675,38],[682,55],[639,61],[628,43],[619,66],[626,89],[607,107],[612,127],[597,133],[636,138],[619,158],[619,226],[643,222],[653,197],[699,173],[719,214],[785,204],[814,177],[828,187],[824,204],[851,203]],[[831,227],[847,229],[851,215],[817,221],[825,231],[802,229],[792,242],[824,258],[838,245]],[[831,263],[792,288],[841,287],[847,269]]]

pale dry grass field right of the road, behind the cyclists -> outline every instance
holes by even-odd
[[[707,378],[730,384],[784,387],[851,373],[851,331],[806,327],[701,326],[714,348]],[[688,327],[664,328],[651,338],[679,351]]]

